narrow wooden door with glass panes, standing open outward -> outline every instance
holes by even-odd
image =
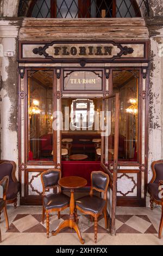
[[[117,198],[118,137],[120,96],[118,93],[103,98],[101,167],[110,177],[107,210],[111,235],[116,233],[115,215]],[[103,121],[104,120],[104,121]]]

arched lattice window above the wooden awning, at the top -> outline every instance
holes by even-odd
[[[147,0],[20,0],[18,16],[110,18],[149,16]]]

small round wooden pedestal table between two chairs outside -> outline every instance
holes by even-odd
[[[61,178],[58,181],[58,184],[61,187],[70,188],[70,191],[71,191],[70,217],[69,217],[69,220],[61,222],[58,229],[55,231],[52,231],[52,235],[57,235],[61,229],[70,227],[76,231],[80,242],[82,243],[82,245],[84,245],[85,241],[82,238],[82,235],[80,234],[80,230],[79,230],[77,223],[74,221],[75,220],[75,218],[74,218],[74,188],[84,187],[87,184],[87,181],[84,178],[81,178],[78,176],[67,176],[67,177]]]

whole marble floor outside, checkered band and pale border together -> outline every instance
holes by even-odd
[[[17,209],[8,206],[10,229],[5,230],[2,212],[0,245],[80,245],[77,234],[69,228],[47,239],[46,224],[41,222],[41,212],[41,206],[19,206]],[[104,227],[104,218],[100,216],[97,245],[163,245],[163,234],[161,239],[158,238],[160,216],[161,211],[158,207],[153,211],[150,208],[117,207],[116,235],[109,234]],[[60,220],[57,215],[52,215],[50,230],[56,229],[66,218],[68,209],[61,213]],[[85,245],[95,245],[90,216],[79,214],[78,218]]]

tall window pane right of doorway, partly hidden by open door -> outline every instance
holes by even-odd
[[[120,93],[119,161],[137,161],[139,71],[113,71],[113,90]],[[114,120],[113,120],[114,121]]]

